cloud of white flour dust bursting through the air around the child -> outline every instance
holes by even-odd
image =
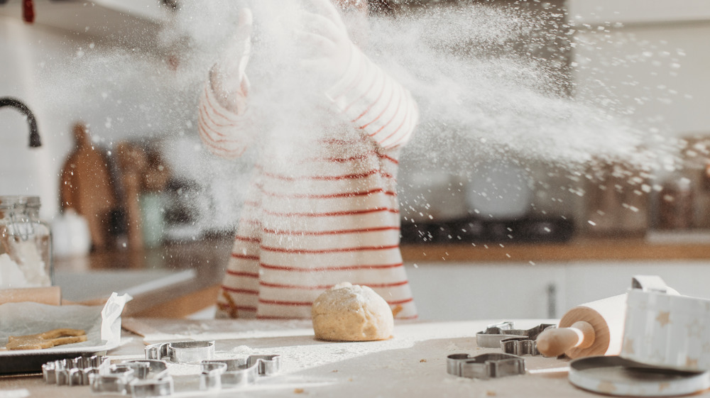
[[[214,62],[236,56],[227,51],[244,6],[253,9],[255,21],[246,74],[253,87],[268,87],[255,89],[261,94],[253,101],[263,114],[294,123],[304,114],[294,104],[302,104],[300,93],[315,84],[289,67],[302,1],[184,1],[160,37],[150,39],[157,57],[87,51],[64,74],[65,85],[55,83],[58,96],[80,94],[87,112],[104,110],[106,119],[94,123],[97,130],[109,134],[138,123],[136,136],[156,138],[170,165],[202,184],[212,202],[208,223],[217,228],[236,222],[254,157],[247,153],[245,160],[226,162],[202,148],[197,95]],[[432,181],[416,182],[413,176],[453,176],[449,189],[460,192],[490,160],[524,170],[545,165],[575,182],[599,162],[620,162],[648,175],[673,167],[677,143],[665,138],[657,123],[635,120],[633,109],[623,108],[611,88],[590,96],[574,82],[584,65],[575,64],[573,55],[594,46],[590,37],[599,32],[599,40],[633,38],[607,38],[613,27],[597,31],[569,19],[560,6],[537,0],[447,2],[405,6],[392,15],[373,12],[367,22],[346,18],[356,25],[351,37],[410,89],[420,109],[419,126],[400,164],[400,190],[413,192],[406,206],[429,205],[417,189],[429,189]],[[638,43],[638,54],[614,62],[652,58],[646,46]],[[57,74],[52,77],[57,82]],[[603,78],[598,80],[603,86]]]

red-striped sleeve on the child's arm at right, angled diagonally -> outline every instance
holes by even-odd
[[[355,45],[348,69],[326,95],[357,128],[383,148],[406,143],[419,118],[410,92]]]

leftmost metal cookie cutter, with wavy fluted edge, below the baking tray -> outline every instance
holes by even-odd
[[[47,384],[89,385],[89,375],[108,367],[109,360],[103,355],[55,360],[42,365],[42,377]]]

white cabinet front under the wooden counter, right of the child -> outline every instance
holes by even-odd
[[[681,294],[710,298],[710,262],[417,262],[407,264],[423,321],[559,318],[623,294],[633,275],[659,275]]]

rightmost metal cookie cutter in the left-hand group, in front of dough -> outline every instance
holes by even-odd
[[[200,389],[241,387],[255,382],[260,375],[270,376],[280,369],[280,355],[251,355],[246,360],[204,360],[200,375]]]

